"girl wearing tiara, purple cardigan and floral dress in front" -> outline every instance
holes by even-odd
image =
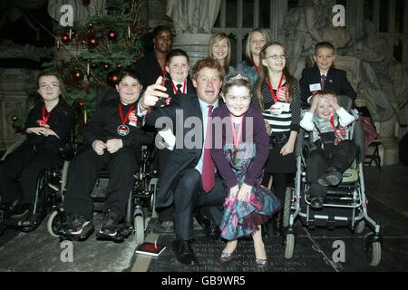
[[[269,142],[261,112],[250,106],[251,88],[245,73],[226,76],[221,93],[225,104],[212,114],[211,156],[228,192],[219,226],[221,237],[228,243],[220,260],[231,260],[238,238],[251,236],[256,265],[266,267],[267,253],[259,226],[281,208],[281,203],[269,189],[260,186]]]

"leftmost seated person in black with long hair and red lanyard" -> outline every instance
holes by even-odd
[[[40,97],[28,112],[27,138],[0,164],[0,196],[5,216],[17,212],[22,203],[34,203],[37,179],[43,169],[63,165],[58,149],[70,138],[75,124],[60,77],[56,73],[40,74],[37,85]]]

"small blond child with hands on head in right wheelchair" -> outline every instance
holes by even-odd
[[[327,189],[342,181],[345,169],[355,160],[358,148],[347,127],[354,121],[355,117],[338,104],[334,92],[321,91],[300,122],[305,131],[311,131],[312,149],[306,154],[311,208],[323,208]]]

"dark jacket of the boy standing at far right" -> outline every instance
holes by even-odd
[[[311,68],[305,68],[300,79],[300,92],[302,101],[307,102],[307,99],[313,94],[310,92],[310,84],[320,83],[319,68],[315,65]],[[335,92],[336,95],[347,95],[353,101],[357,98],[357,93],[347,80],[345,71],[331,67],[325,78],[325,90]]]

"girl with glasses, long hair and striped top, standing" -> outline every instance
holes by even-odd
[[[287,173],[296,170],[294,148],[301,113],[299,84],[287,69],[287,56],[281,43],[265,44],[259,57],[252,104],[262,111],[269,134],[264,184],[268,185],[272,175],[277,198],[284,202]]]

